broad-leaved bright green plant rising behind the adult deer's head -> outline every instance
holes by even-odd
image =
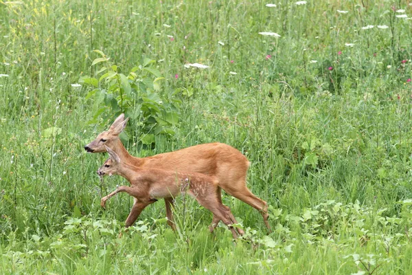
[[[116,115],[126,113],[143,144],[155,142],[155,135],[174,135],[181,101],[174,94],[161,94],[161,80],[165,78],[153,67],[156,61],[144,58],[143,64],[126,75],[104,52],[93,52],[100,54],[91,63],[91,66],[102,65],[96,72],[100,77],[83,76],[79,80],[94,87],[86,96],[86,100],[93,98],[94,116],[89,123],[96,123],[108,111]]]

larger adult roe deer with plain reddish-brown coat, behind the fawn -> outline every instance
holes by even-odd
[[[124,114],[119,115],[108,131],[104,131],[95,140],[84,146],[84,150],[90,153],[106,152],[106,147],[112,148],[119,155],[122,162],[140,168],[160,168],[176,172],[202,173],[214,176],[218,179],[218,194],[221,198],[221,190],[229,195],[244,201],[262,214],[264,223],[269,232],[268,205],[266,201],[256,197],[246,186],[247,170],[250,162],[236,148],[222,143],[208,143],[183,148],[178,151],[162,153],[152,157],[133,157],[130,155],[119,139],[119,134],[126,127]],[[172,198],[165,198],[166,217],[169,225],[174,229],[172,212]]]

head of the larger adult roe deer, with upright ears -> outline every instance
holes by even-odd
[[[116,118],[108,131],[100,133],[93,142],[84,146],[84,150],[89,153],[104,153],[106,152],[106,146],[113,148],[115,142],[119,140],[119,134],[122,133],[126,127],[127,122],[128,118],[125,120],[124,114],[122,113]]]

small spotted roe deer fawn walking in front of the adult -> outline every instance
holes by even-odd
[[[238,237],[238,232],[231,226],[237,223],[235,217],[227,206],[219,199],[218,181],[200,173],[178,173],[173,171],[139,168],[123,163],[119,156],[106,146],[110,158],[98,170],[98,175],[120,175],[130,182],[129,186],[119,186],[114,192],[102,198],[100,205],[105,208],[106,201],[118,192],[127,192],[135,198],[135,204],[126,219],[126,227],[133,225],[139,214],[150,203],[165,197],[176,197],[179,194],[194,197],[204,208],[214,214],[210,232],[219,221],[223,221],[232,232],[233,238]],[[242,232],[239,232],[242,234]]]

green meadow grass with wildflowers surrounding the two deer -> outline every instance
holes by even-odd
[[[265,5],[0,3],[2,274],[411,272],[412,39],[411,21],[397,17],[410,17],[411,5]],[[90,85],[72,86],[101,75],[93,50],[126,76],[154,59],[165,77],[156,93],[181,100],[172,135],[142,145],[145,133],[128,126],[130,153],[215,141],[238,148],[252,162],[249,188],[271,206],[273,233],[256,210],[224,195],[244,239],[233,242],[223,226],[209,234],[211,214],[183,199],[176,232],[159,201],[117,238],[132,201],[118,195],[100,208],[124,180],[100,182],[95,170],[106,155],[82,146],[119,110],[106,107],[93,120],[104,104],[86,99]]]

